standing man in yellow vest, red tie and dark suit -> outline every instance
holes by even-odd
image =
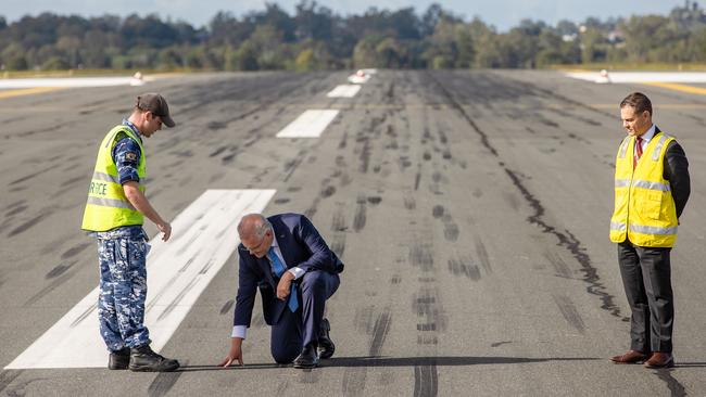
[[[632,310],[630,350],[616,363],[672,367],[673,293],[669,254],[691,191],[682,148],[652,123],[652,103],[634,92],[620,103],[628,132],[618,149],[610,240]]]

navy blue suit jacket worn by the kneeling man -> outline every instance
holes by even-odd
[[[322,270],[329,273],[343,271],[343,262],[329,249],[326,241],[314,225],[300,214],[280,214],[267,218],[273,225],[279,251],[287,268],[299,267],[304,271]],[[238,270],[238,295],[234,313],[234,325],[250,326],[252,309],[257,289],[263,300],[263,315],[268,325],[277,323],[287,300],[275,295],[277,281],[274,279],[267,257],[257,258],[242,245],[238,245],[240,267]],[[301,281],[301,278],[299,279]]]

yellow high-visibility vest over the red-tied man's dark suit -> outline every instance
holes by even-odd
[[[632,167],[634,137],[626,137],[618,149],[615,172],[615,210],[610,241],[628,238],[639,246],[671,247],[677,241],[677,206],[669,181],[664,178],[665,153],[672,137],[656,133]]]

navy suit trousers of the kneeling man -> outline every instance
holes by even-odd
[[[289,363],[302,353],[302,348],[318,342],[318,333],[326,299],[340,284],[338,274],[315,270],[302,276],[299,308],[295,312],[285,308],[279,321],[272,326],[270,351],[275,361]]]

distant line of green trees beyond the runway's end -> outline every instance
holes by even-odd
[[[439,4],[421,14],[370,8],[343,17],[310,0],[294,15],[270,3],[240,17],[219,12],[198,28],[157,15],[43,13],[12,24],[0,16],[4,71],[534,68],[596,62],[706,62],[706,14],[686,1],[669,15],[556,26],[527,20],[506,33]]]

